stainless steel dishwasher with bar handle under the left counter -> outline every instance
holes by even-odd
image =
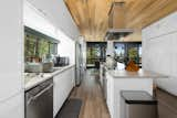
[[[53,79],[25,92],[25,118],[53,118]]]

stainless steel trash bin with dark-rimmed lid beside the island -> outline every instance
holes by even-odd
[[[157,118],[157,100],[146,92],[123,90],[121,118]]]

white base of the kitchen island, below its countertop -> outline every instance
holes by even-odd
[[[122,90],[144,90],[153,95],[153,78],[135,77],[114,77],[106,72],[107,78],[107,108],[111,118],[123,118],[121,109]]]

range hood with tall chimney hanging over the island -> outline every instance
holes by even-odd
[[[125,22],[125,2],[113,2],[108,12],[108,30],[106,32],[106,40],[119,40],[134,32],[133,29],[127,29]]]

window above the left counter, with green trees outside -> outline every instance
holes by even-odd
[[[55,41],[38,35],[38,33],[24,32],[25,62],[31,62],[32,58],[39,58],[40,61],[49,54],[58,54],[58,43]]]

